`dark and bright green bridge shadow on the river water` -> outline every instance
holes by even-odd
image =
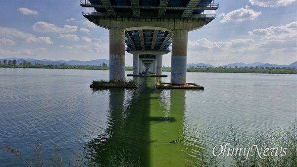
[[[198,151],[185,143],[186,90],[158,90],[156,77],[135,79],[137,89],[93,89],[109,96],[108,128],[86,143],[85,155],[104,166],[111,151],[125,149],[144,167],[184,166],[186,155]]]

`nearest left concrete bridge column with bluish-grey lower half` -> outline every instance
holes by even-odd
[[[109,29],[109,82],[125,82],[125,30]]]

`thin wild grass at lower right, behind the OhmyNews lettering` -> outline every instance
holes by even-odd
[[[196,158],[188,156],[185,167],[297,167],[297,120],[289,129],[255,131],[251,137],[243,129],[235,128],[231,124],[229,133],[222,135],[226,143],[230,143],[226,147],[226,150],[230,150],[229,158],[226,158],[228,151],[225,156],[217,156],[221,152],[220,147],[204,148]],[[259,153],[255,145],[258,146]],[[233,148],[242,149],[238,150],[238,154],[231,154]],[[248,149],[250,152],[247,152]],[[216,156],[205,150],[214,151]]]

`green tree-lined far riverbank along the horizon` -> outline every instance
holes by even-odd
[[[48,68],[48,69],[88,69],[88,70],[109,70],[108,66],[73,66],[73,65],[1,65],[1,68]],[[132,71],[133,67],[125,67],[126,71]],[[170,67],[163,67],[162,71],[170,72]],[[268,74],[297,74],[297,69],[289,68],[187,68],[187,72],[219,72],[219,73],[268,73]]]

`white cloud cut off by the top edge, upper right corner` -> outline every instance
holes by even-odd
[[[261,6],[261,7],[278,7],[287,6],[296,0],[249,0],[251,5]]]

